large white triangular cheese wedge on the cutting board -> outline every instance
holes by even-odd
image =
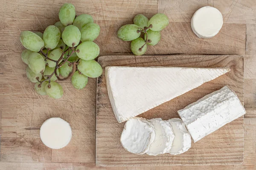
[[[230,68],[105,68],[108,96],[117,121],[124,122],[184,94]]]

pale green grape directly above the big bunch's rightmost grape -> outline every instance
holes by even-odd
[[[76,50],[79,50],[76,55],[84,60],[92,60],[99,55],[99,46],[92,41],[82,42],[77,46]]]

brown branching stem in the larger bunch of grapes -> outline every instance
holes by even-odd
[[[81,42],[79,42],[79,44],[80,44],[80,43],[81,43]],[[54,69],[54,71],[52,72],[51,75],[44,75],[43,72],[41,72],[42,76],[43,76],[43,77],[47,77],[47,79],[44,79],[44,80],[42,80],[42,81],[39,81],[39,77],[36,78],[36,79],[38,80],[38,82],[40,82],[39,85],[38,85],[39,88],[41,87],[42,83],[45,82],[45,81],[48,81],[48,82],[49,82],[48,88],[51,88],[50,82],[51,82],[51,78],[52,78],[53,75],[55,75],[58,80],[64,80],[64,79],[68,79],[68,78],[70,78],[71,76],[73,76],[73,74],[75,73],[75,71],[78,70],[77,67],[76,67],[76,65],[78,64],[78,62],[76,62],[76,61],[73,61],[73,62],[68,61],[68,59],[70,58],[70,56],[71,56],[73,53],[79,52],[79,50],[76,50],[76,47],[75,47],[75,44],[74,44],[74,43],[72,44],[72,47],[69,47],[69,48],[67,48],[67,50],[65,50],[65,51],[62,52],[61,57],[60,57],[58,60],[54,60],[54,59],[48,58],[48,51],[49,51],[49,50],[50,50],[50,49],[48,48],[48,49],[47,49],[47,54],[45,54],[44,51],[43,51],[43,49],[41,49],[41,50],[40,50],[40,53],[41,53],[42,55],[44,55],[44,57],[45,57],[44,60],[45,60],[45,61],[47,61],[47,59],[49,59],[50,61],[53,61],[53,62],[56,63],[55,69]],[[70,51],[71,51],[71,53],[70,53]],[[63,57],[64,57],[64,55],[65,55],[66,53],[68,53],[68,54],[67,54],[67,58],[64,59]],[[61,60],[62,60],[63,62],[61,62]],[[60,62],[61,62],[61,63],[60,63]],[[58,76],[57,70],[58,70],[58,68],[61,68],[61,66],[64,65],[65,62],[68,62],[70,67],[71,67],[71,65],[73,65],[73,69],[72,69],[72,71],[69,73],[69,75],[68,75],[67,77],[62,78],[62,77],[59,77],[59,76]],[[79,71],[79,72],[80,72],[80,71]]]

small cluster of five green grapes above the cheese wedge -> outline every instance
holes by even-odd
[[[131,51],[137,56],[145,54],[147,45],[156,45],[161,39],[160,31],[169,25],[165,14],[155,14],[150,20],[143,14],[137,14],[133,22],[119,28],[117,36],[123,41],[131,41]],[[141,33],[144,33],[144,39],[140,37]]]

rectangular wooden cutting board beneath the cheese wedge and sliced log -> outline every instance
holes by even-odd
[[[244,62],[241,56],[102,56],[98,61],[103,68],[109,65],[231,68],[229,73],[139,115],[145,119],[166,120],[178,117],[177,110],[225,85],[236,91],[241,102],[244,102]],[[168,153],[158,156],[135,155],[126,151],[119,142],[125,122],[118,123],[114,116],[107,93],[105,71],[97,80],[96,100],[96,165],[98,166],[227,165],[243,162],[243,116],[200,141],[192,142],[192,147],[186,153],[176,156]]]

